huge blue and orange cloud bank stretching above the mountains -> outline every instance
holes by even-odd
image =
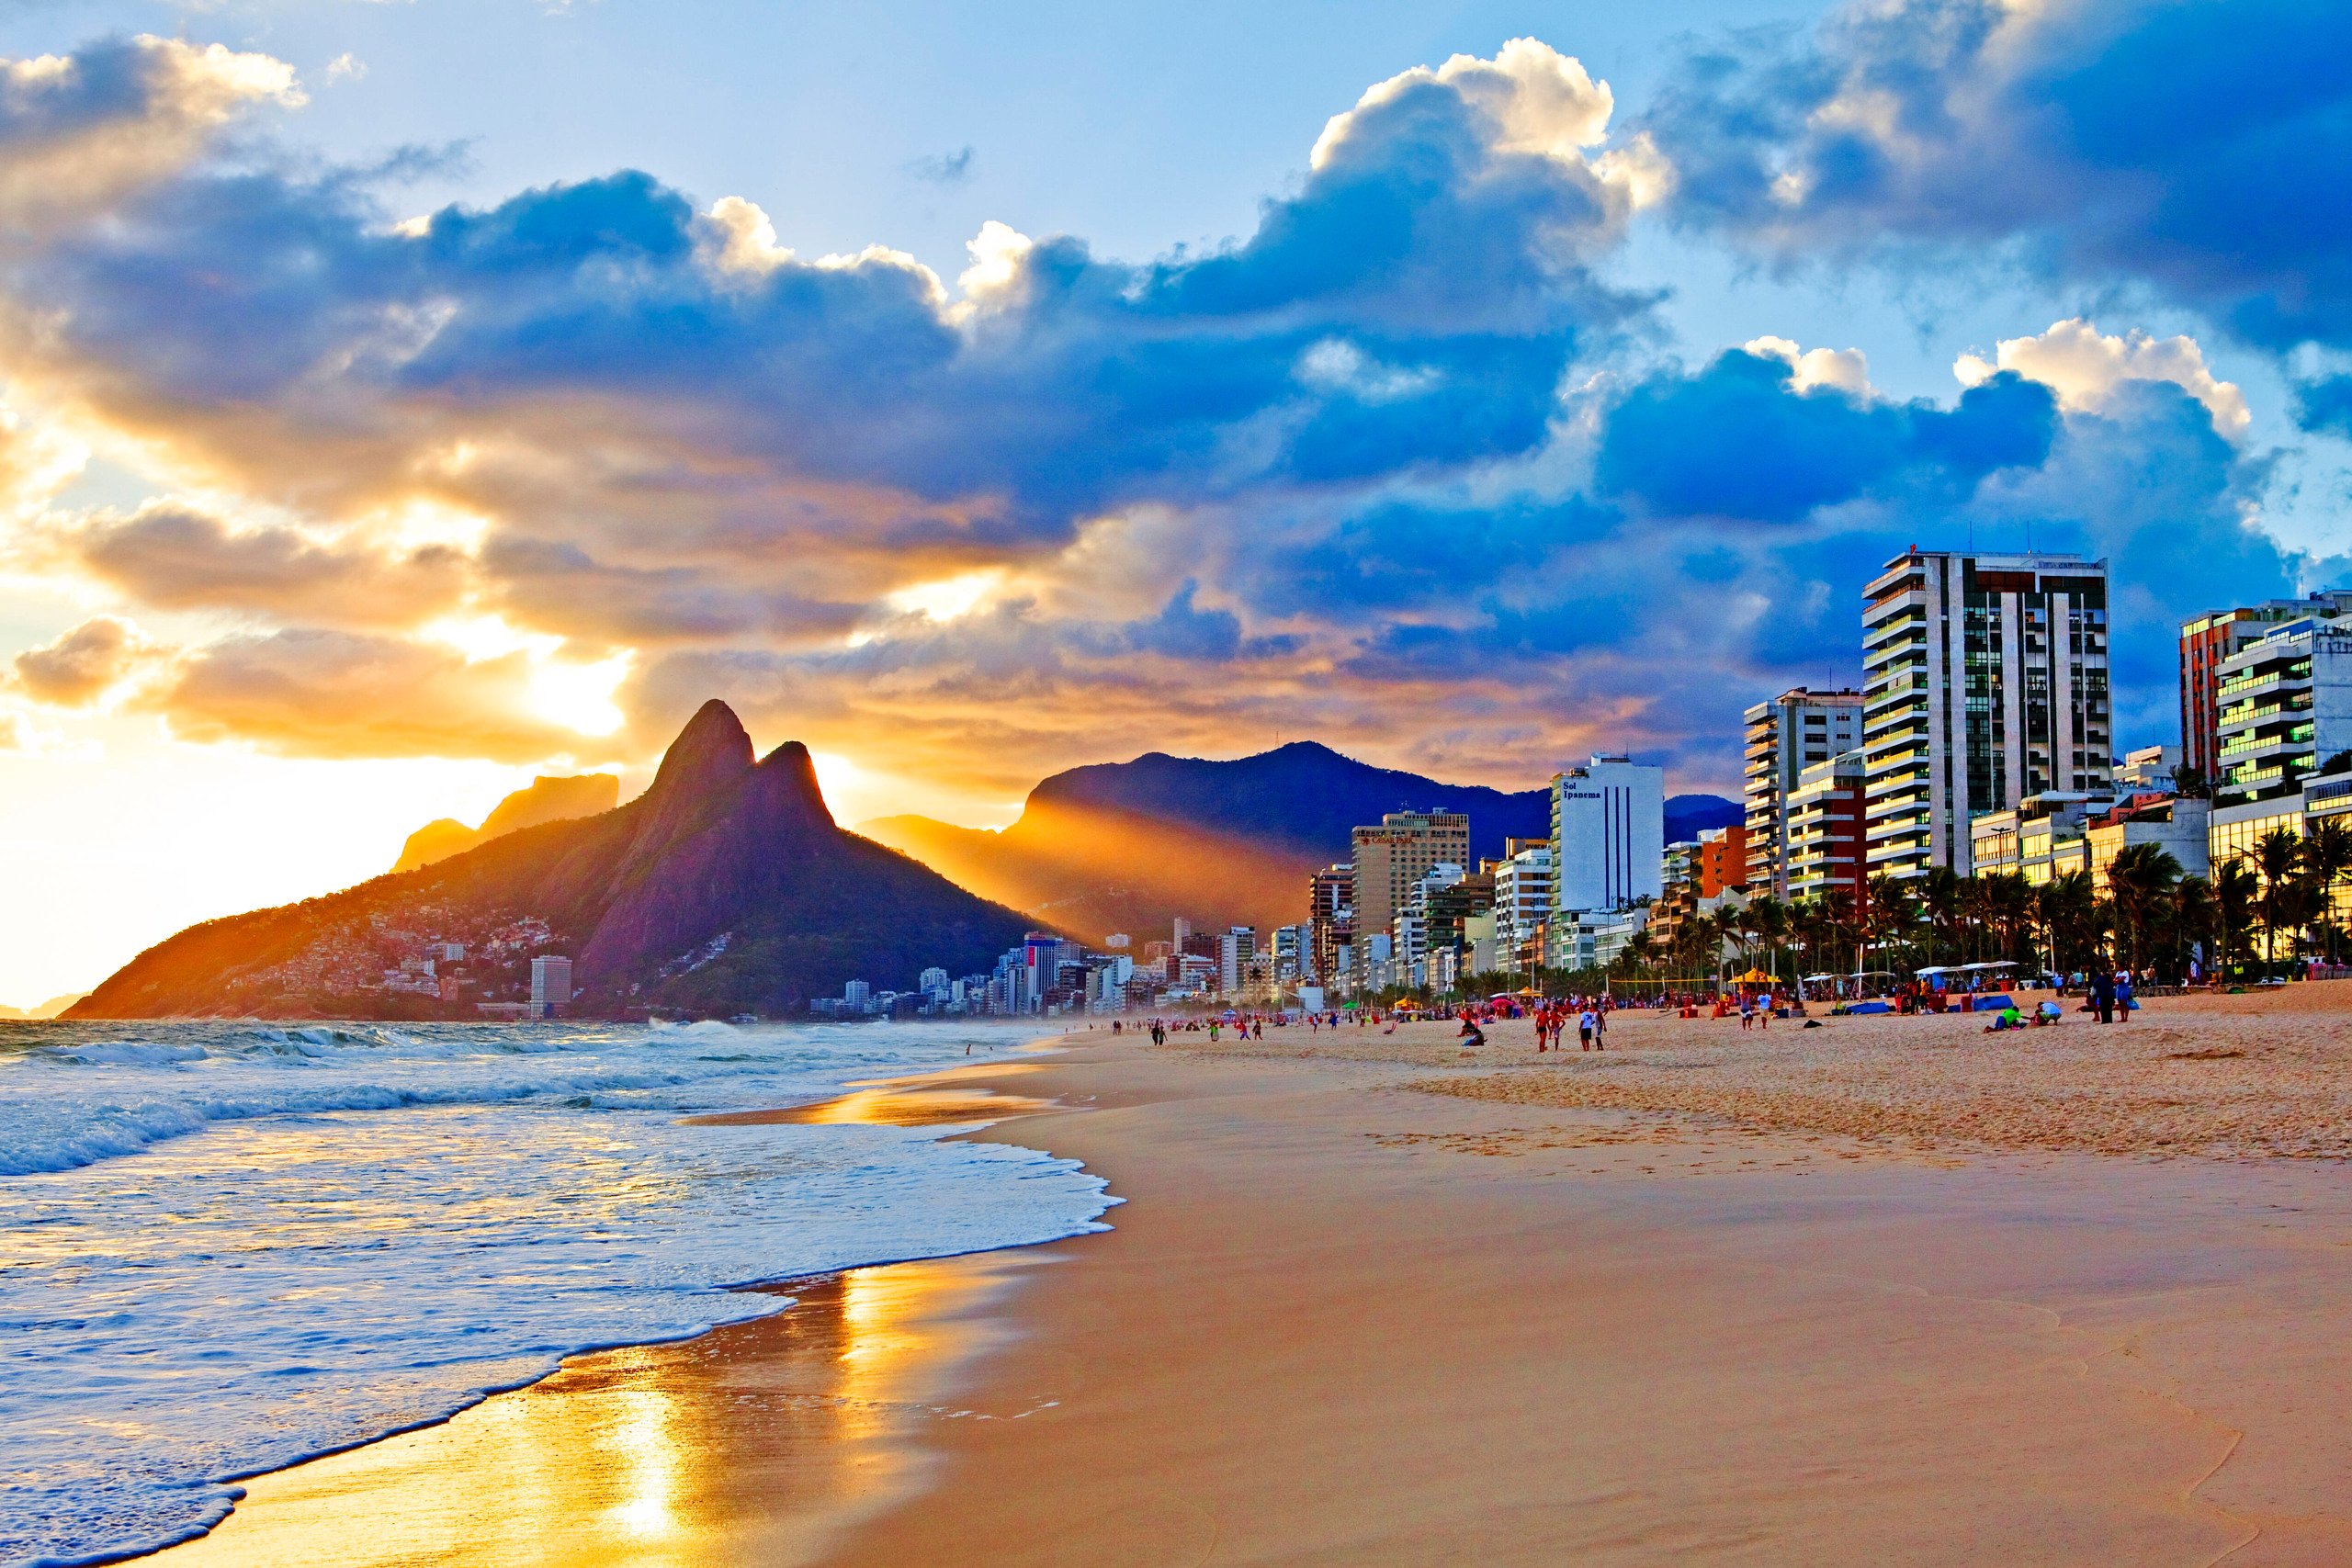
[[[1926,146],[1905,113],[1823,125]],[[1729,783],[1738,708],[1849,656],[1915,538],[2114,550],[2166,637],[2291,574],[2194,343],[2053,329],[1947,400],[1780,336],[1658,362],[1618,247],[1693,179],[1731,221],[1722,146],[1613,115],[1517,40],[1362,94],[1247,235],[985,223],[953,280],[642,172],[395,219],[367,172],[216,153],[0,252],[12,374],[205,496],[19,555],[214,616],[136,679],[188,738],[600,762],[717,693],[990,799],[1275,729]]]

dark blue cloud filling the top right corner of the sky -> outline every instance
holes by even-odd
[[[1867,0],[1693,49],[1644,125],[1684,221],[1783,259],[2009,247],[2352,346],[2347,56],[2333,0]]]

